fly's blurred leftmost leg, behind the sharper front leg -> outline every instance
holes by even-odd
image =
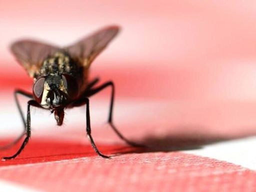
[[[21,94],[23,96],[26,96],[28,98],[33,98],[32,94],[29,93],[29,92],[26,92],[26,91],[23,91],[23,90],[15,90],[14,91],[14,99],[15,99],[15,103],[16,103],[16,106],[18,108],[18,112],[21,116],[21,119],[22,119],[22,122],[23,122],[23,132],[15,139],[13,140],[11,143],[8,143],[4,146],[0,146],[0,149],[7,149],[7,148],[10,148],[11,146],[13,146],[14,144],[16,144],[25,134],[25,128],[26,128],[26,123],[25,123],[25,119],[24,119],[24,115],[23,115],[23,112],[21,110],[21,107],[20,107],[20,104],[19,104],[19,101],[18,101],[18,98],[17,98],[17,94]]]

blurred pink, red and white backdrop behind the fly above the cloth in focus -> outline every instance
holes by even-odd
[[[122,30],[93,62],[91,78],[115,82],[114,121],[125,135],[148,142],[252,135],[255,21],[253,0],[0,0],[1,135],[22,131],[12,91],[32,85],[8,45],[24,37],[68,45],[108,24]],[[115,137],[102,128],[108,99],[105,90],[91,104],[93,131],[102,142]],[[68,110],[62,130],[76,139],[84,115],[82,107]],[[33,109],[32,118],[32,134],[60,134],[48,111]]]

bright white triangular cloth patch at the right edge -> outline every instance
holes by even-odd
[[[224,160],[256,170],[256,136],[221,141],[201,149],[185,150],[187,153]]]

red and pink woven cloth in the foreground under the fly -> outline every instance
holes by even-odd
[[[54,147],[47,147],[50,144]],[[35,150],[42,146],[47,147],[44,155]],[[67,149],[66,154],[59,153],[63,148]],[[70,143],[33,142],[22,158],[1,162],[1,179],[47,191],[256,190],[256,173],[228,162],[182,152],[142,151],[102,159],[93,152],[81,152],[81,148],[86,149]],[[106,148],[102,151],[113,152],[111,146]],[[20,165],[5,166],[6,163]]]

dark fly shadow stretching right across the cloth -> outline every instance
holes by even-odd
[[[173,130],[173,128],[171,128]],[[254,132],[246,132],[240,135],[227,135],[207,132],[206,128],[193,129],[193,131],[186,131],[187,127],[176,127],[176,130],[182,130],[178,133],[168,132],[164,135],[149,134],[143,137],[139,143],[144,147],[132,147],[129,150],[124,150],[116,155],[125,153],[145,153],[145,152],[173,152],[182,150],[193,150],[203,148],[205,145],[217,143],[220,141],[234,140],[256,135],[256,128]],[[191,129],[190,129],[191,130]]]

